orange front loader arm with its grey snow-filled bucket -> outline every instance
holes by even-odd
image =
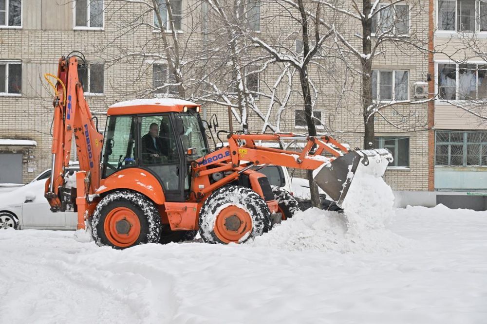
[[[295,134],[230,134],[228,146],[195,161],[193,188],[196,197],[203,198],[218,187],[236,180],[251,165],[274,164],[290,168],[316,170],[314,180],[337,204],[345,199],[355,172],[361,163],[365,172],[381,177],[392,155],[387,149],[349,151],[330,136],[305,137]],[[289,151],[259,146],[257,141],[293,140],[305,142],[301,151]],[[322,156],[328,153],[328,157]],[[241,165],[242,161],[249,162]],[[371,163],[373,161],[374,163]],[[225,171],[227,175],[215,183],[201,185],[199,177]],[[229,173],[229,171],[233,171]]]

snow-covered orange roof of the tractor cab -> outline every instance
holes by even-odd
[[[185,107],[196,108],[193,102],[175,98],[134,99],[118,102],[108,108],[107,115],[133,115],[158,112],[182,112]]]

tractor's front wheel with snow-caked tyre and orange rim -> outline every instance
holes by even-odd
[[[243,243],[269,231],[271,215],[264,199],[255,191],[230,185],[206,199],[199,224],[206,243]]]

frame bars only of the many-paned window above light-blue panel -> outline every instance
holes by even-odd
[[[462,142],[451,142],[449,140],[448,142],[444,141],[438,141],[438,136],[437,132],[448,132],[449,133],[449,138],[451,137],[451,133],[462,133],[463,135],[463,140]],[[487,147],[487,141],[486,142],[469,142],[468,141],[468,133],[485,133],[487,136],[487,131],[476,131],[476,130],[450,130],[450,129],[436,129],[434,133],[434,167],[454,167],[454,168],[487,168],[487,162],[486,164],[482,164],[482,148],[483,146]],[[468,145],[472,144],[478,144],[479,145],[479,161],[480,165],[468,165]],[[438,145],[448,145],[448,164],[436,164],[436,147]],[[451,145],[462,145],[462,165],[451,165]]]

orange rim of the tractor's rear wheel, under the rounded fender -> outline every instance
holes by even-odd
[[[117,247],[131,246],[140,235],[139,217],[127,207],[112,209],[103,225],[108,240]]]

